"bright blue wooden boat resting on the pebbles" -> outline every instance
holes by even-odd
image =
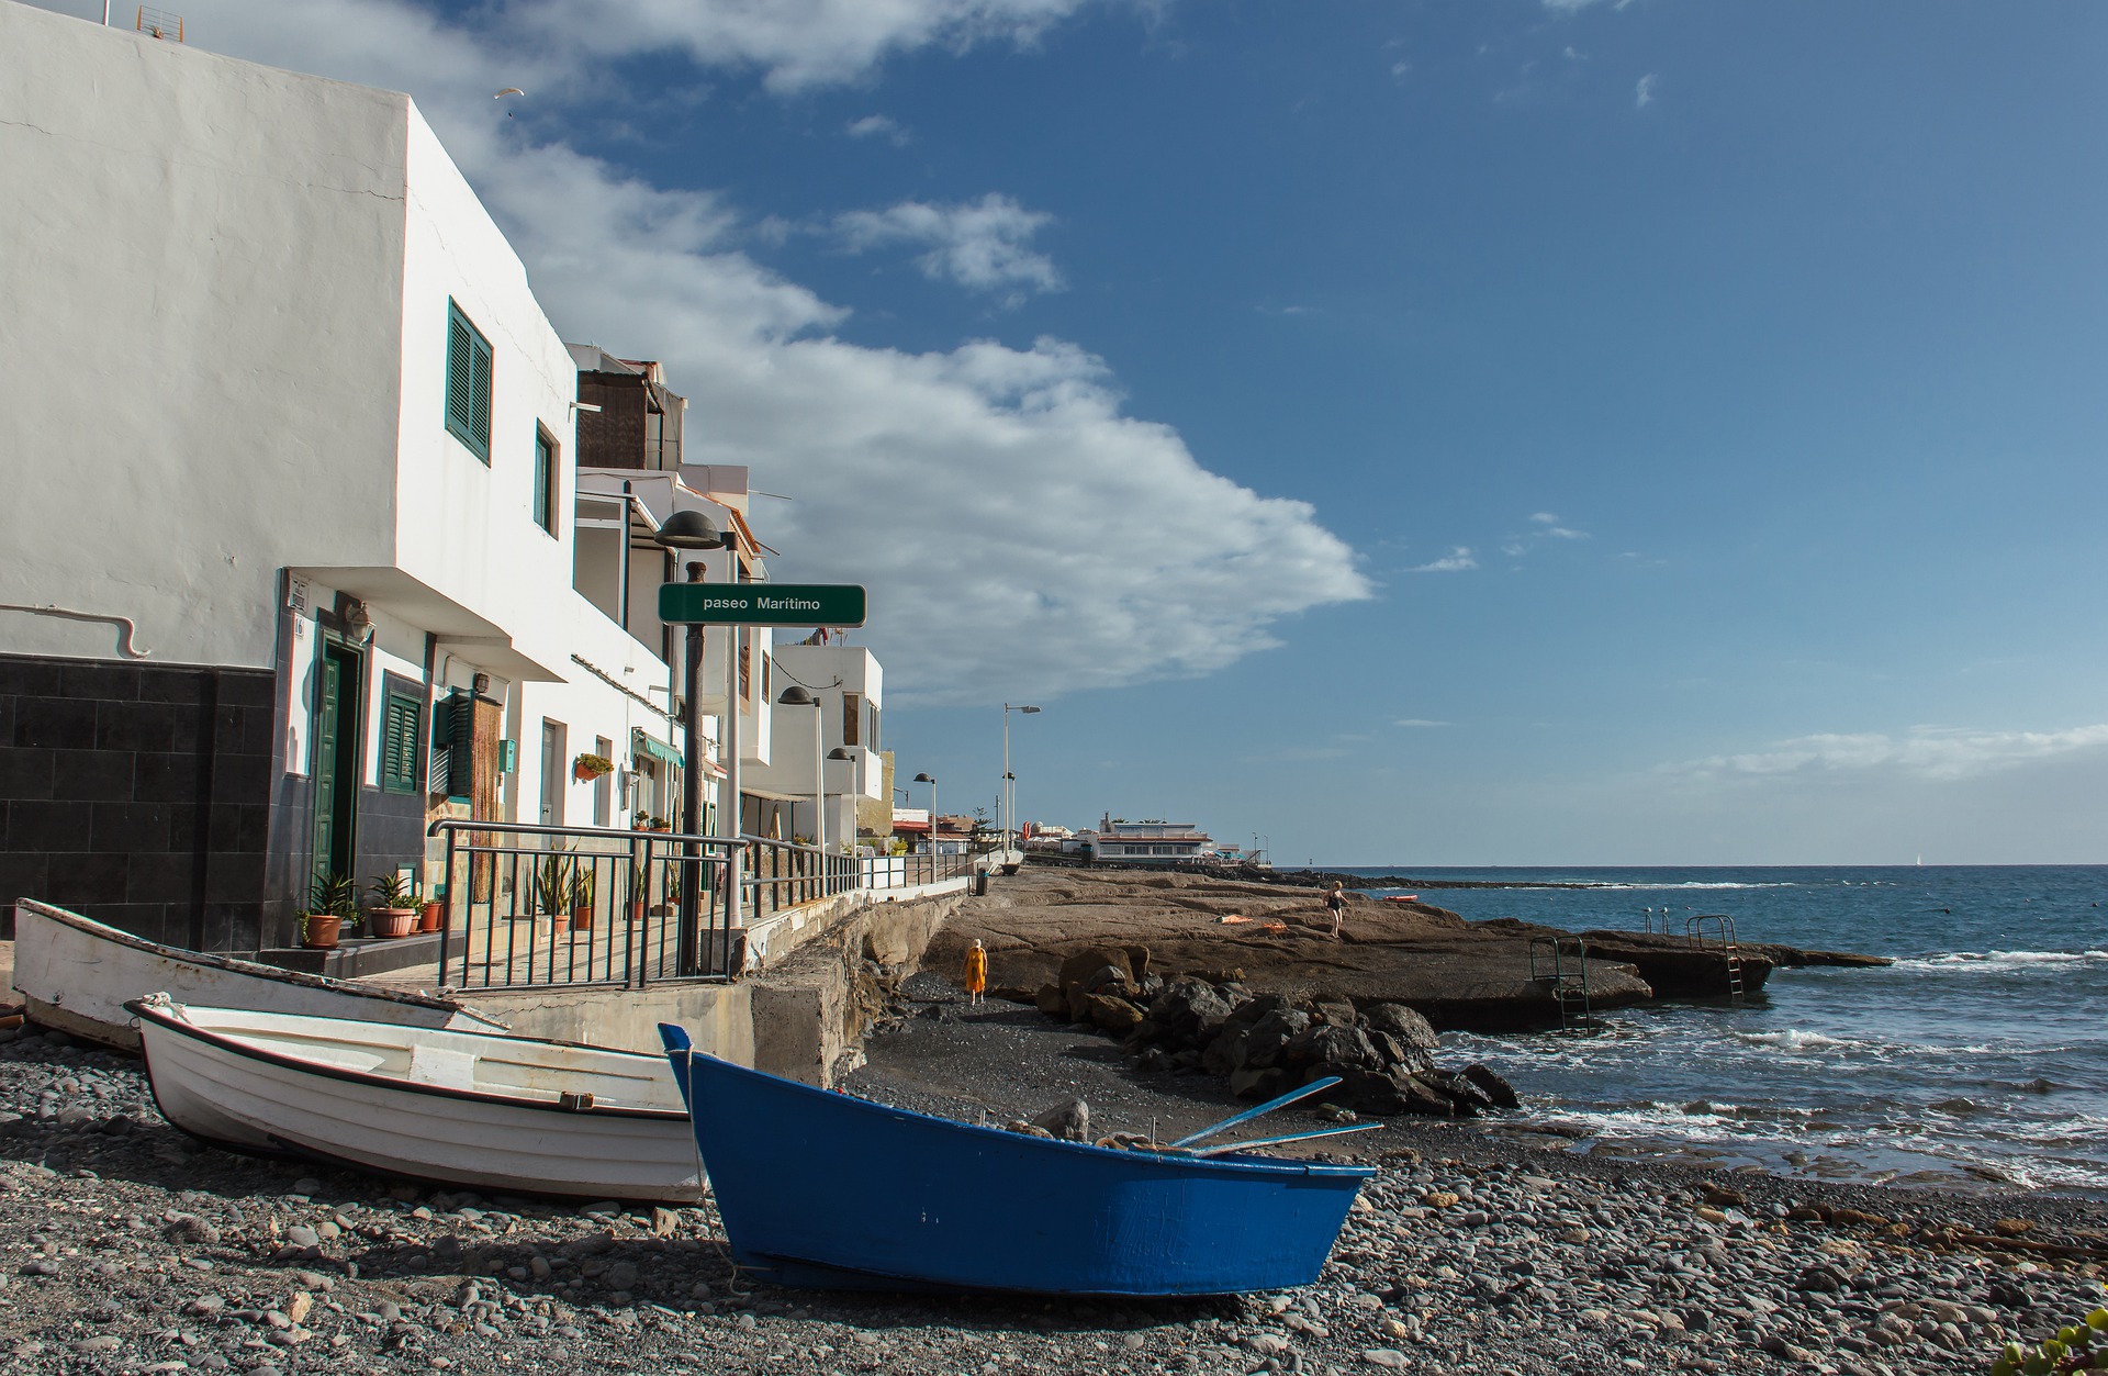
[[[784,1285],[1178,1296],[1318,1279],[1374,1172],[1115,1151],[887,1108],[660,1024],[731,1256]]]

